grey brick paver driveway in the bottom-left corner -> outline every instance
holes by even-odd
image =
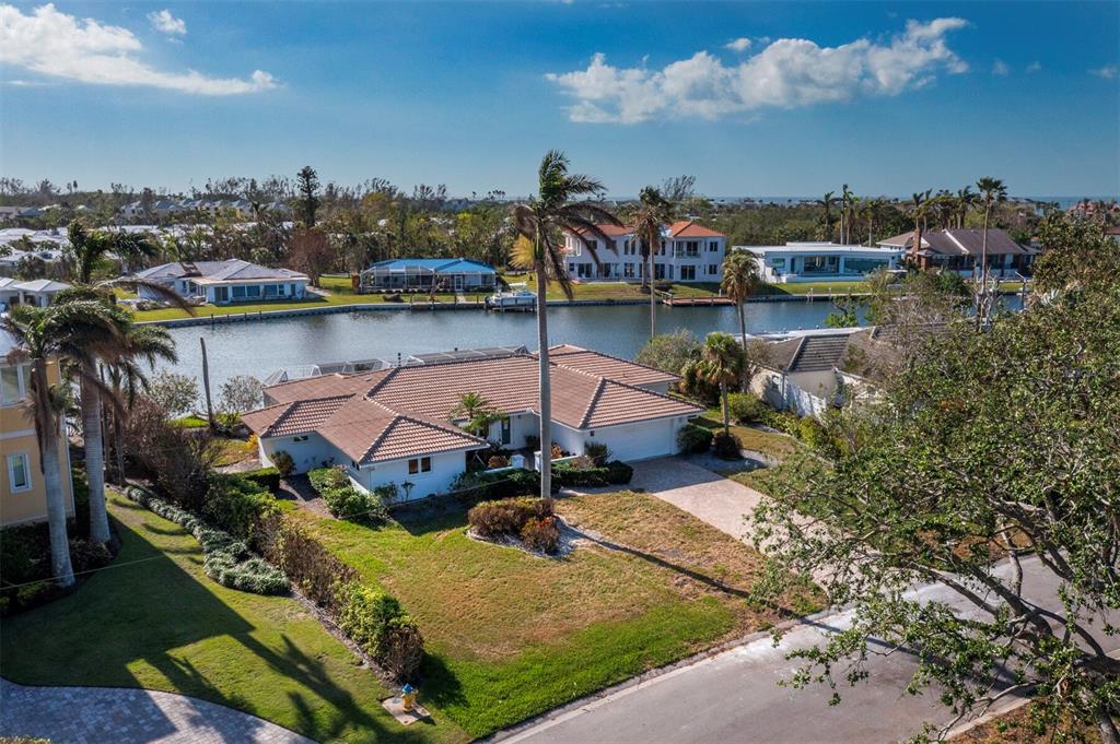
[[[0,736],[53,744],[314,744],[214,703],[116,687],[25,687],[0,679]]]

